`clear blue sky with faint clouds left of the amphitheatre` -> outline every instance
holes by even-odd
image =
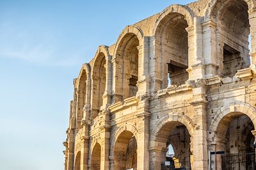
[[[63,169],[73,79],[125,26],[192,1],[0,1],[0,169]]]

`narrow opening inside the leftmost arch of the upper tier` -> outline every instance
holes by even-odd
[[[86,103],[86,81],[87,75],[86,71],[82,68],[77,88],[77,115],[76,115],[76,127],[81,128],[81,120],[83,119],[83,108]]]

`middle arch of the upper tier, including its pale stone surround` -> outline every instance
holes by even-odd
[[[142,61],[143,32],[138,26],[127,26],[113,52],[113,102],[134,97],[138,91],[139,62]]]

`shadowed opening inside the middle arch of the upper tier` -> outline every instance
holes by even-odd
[[[127,33],[116,51],[118,65],[122,65],[120,70],[116,69],[118,79],[122,79],[121,84],[116,84],[116,88],[122,88],[122,100],[136,96],[138,91],[138,59],[140,42],[133,33]],[[120,63],[119,63],[120,61]],[[120,77],[120,78],[119,78]]]

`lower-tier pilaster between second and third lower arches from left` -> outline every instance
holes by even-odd
[[[100,151],[100,169],[109,169],[109,149],[110,149],[110,130],[109,123],[110,112],[104,112],[102,126],[100,127],[101,151]]]

